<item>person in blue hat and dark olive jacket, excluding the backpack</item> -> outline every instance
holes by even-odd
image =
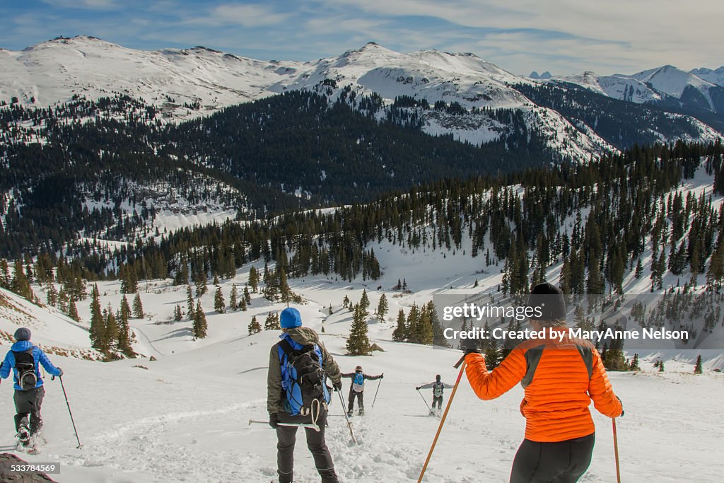
[[[301,327],[302,319],[296,308],[285,308],[279,314],[279,324],[284,332],[279,336],[282,341],[287,341],[292,348],[299,349],[301,346],[316,344],[317,356],[321,358],[321,366],[324,373],[332,379],[334,390],[342,389],[340,380],[340,368],[329,355],[324,345],[319,342],[319,335],[308,327]],[[271,346],[269,353],[269,373],[266,378],[266,408],[269,411],[269,426],[277,430],[277,474],[279,483],[290,483],[294,476],[294,445],[296,441],[297,427],[279,426],[279,423],[316,423],[319,432],[315,429],[305,428],[307,447],[314,458],[322,483],[337,483],[337,473],[334,471],[332,455],[329,454],[327,442],[324,440],[324,429],[327,422],[327,404],[317,406],[317,411],[310,411],[306,415],[292,415],[290,403],[287,401],[285,392],[285,372],[282,367],[283,348],[282,341]],[[326,389],[325,389],[326,390]]]

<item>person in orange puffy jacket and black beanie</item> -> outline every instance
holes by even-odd
[[[463,339],[466,375],[483,400],[499,397],[518,382],[525,390],[526,436],[515,453],[510,483],[575,483],[593,453],[591,400],[610,418],[623,416],[623,407],[594,345],[568,337],[563,292],[550,283],[536,285],[528,305],[541,308],[539,318],[531,319],[533,329],[565,332],[563,340],[526,340],[488,371],[479,340]]]

